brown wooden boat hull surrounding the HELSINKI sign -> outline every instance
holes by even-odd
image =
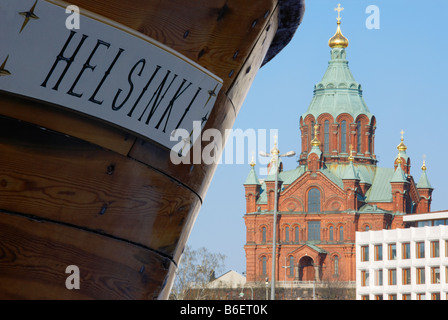
[[[221,78],[203,130],[222,133],[304,10],[302,1],[274,0],[71,4]],[[176,165],[169,148],[129,128],[5,89],[0,154],[1,299],[168,297],[216,164]],[[79,289],[66,285],[72,265],[80,271]]]

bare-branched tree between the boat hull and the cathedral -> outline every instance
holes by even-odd
[[[204,247],[192,250],[187,246],[176,272],[170,299],[206,299],[207,284],[215,279],[215,273],[223,271],[224,260],[223,254],[211,253]]]

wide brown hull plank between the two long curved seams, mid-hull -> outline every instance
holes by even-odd
[[[16,120],[0,117],[0,150],[0,208],[171,257],[201,203],[194,192],[142,163]]]

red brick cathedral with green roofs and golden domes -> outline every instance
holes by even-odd
[[[376,119],[349,70],[340,19],[329,46],[328,69],[300,117],[299,165],[283,170],[275,146],[267,177],[252,163],[244,183],[248,282],[272,279],[277,168],[276,281],[355,281],[356,231],[402,228],[403,215],[431,209],[426,166],[417,183],[403,133],[391,168],[377,166]]]

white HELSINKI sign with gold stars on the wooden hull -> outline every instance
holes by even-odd
[[[173,130],[207,121],[222,80],[135,30],[65,3],[0,6],[0,91],[46,101],[123,127],[171,149]],[[192,135],[197,137],[198,135]],[[190,149],[190,141],[183,154]]]

